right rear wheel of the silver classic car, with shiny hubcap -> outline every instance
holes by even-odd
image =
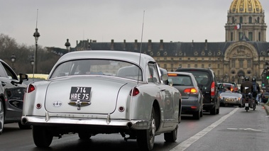
[[[137,142],[141,150],[152,150],[155,140],[155,111],[152,108],[150,117],[150,128],[148,130],[138,130],[137,132]]]

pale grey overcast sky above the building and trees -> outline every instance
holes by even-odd
[[[0,33],[18,44],[65,48],[97,42],[224,42],[232,0],[0,0]],[[269,1],[260,0],[269,25]],[[38,11],[37,11],[38,10]],[[144,13],[145,12],[145,13]],[[143,13],[144,21],[143,21]],[[143,27],[143,36],[142,36]],[[269,40],[269,29],[267,38]]]

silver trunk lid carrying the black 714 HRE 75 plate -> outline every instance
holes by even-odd
[[[52,81],[46,92],[45,108],[55,113],[112,113],[125,84],[122,80],[104,77]]]

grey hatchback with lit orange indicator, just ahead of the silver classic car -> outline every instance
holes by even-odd
[[[192,114],[199,120],[203,116],[203,94],[192,73],[168,72],[168,82],[180,91],[182,114]]]

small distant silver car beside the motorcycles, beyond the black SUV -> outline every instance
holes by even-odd
[[[243,107],[243,96],[239,92],[224,91],[219,94],[221,106],[238,106]]]

